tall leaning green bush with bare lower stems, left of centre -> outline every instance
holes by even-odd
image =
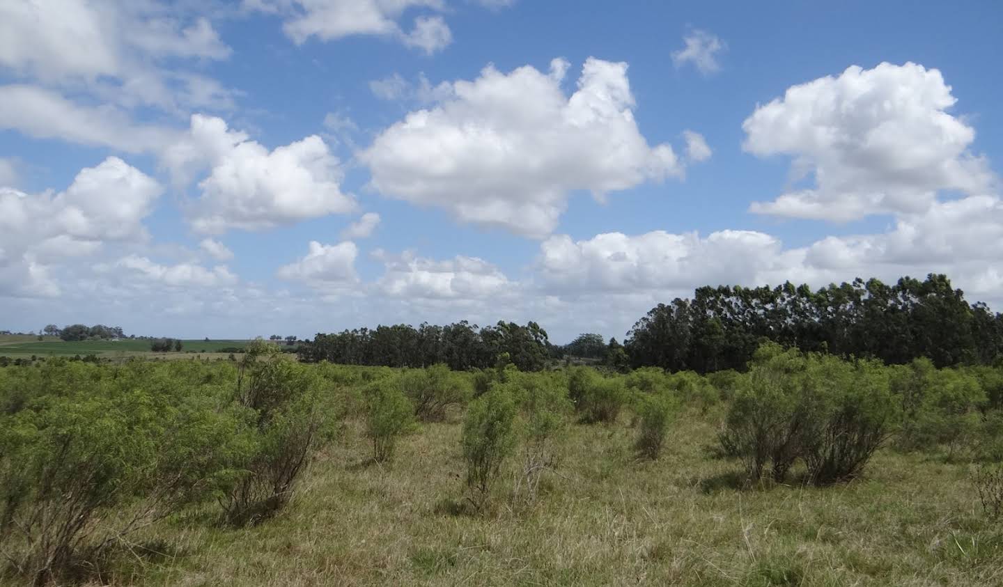
[[[237,402],[251,413],[255,451],[222,500],[230,524],[261,522],[292,499],[296,480],[332,432],[334,408],[320,383],[314,370],[282,358],[275,345],[248,347]]]

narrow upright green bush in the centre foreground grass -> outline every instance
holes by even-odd
[[[501,464],[515,447],[516,414],[515,398],[500,386],[473,400],[467,409],[462,431],[463,459],[467,499],[477,510],[489,500]]]

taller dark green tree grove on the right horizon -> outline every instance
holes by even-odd
[[[742,369],[763,340],[803,351],[938,367],[989,363],[1003,350],[1003,315],[969,304],[944,275],[895,285],[877,279],[817,291],[701,287],[692,300],[659,304],[638,320],[625,347],[632,366],[699,372]]]

